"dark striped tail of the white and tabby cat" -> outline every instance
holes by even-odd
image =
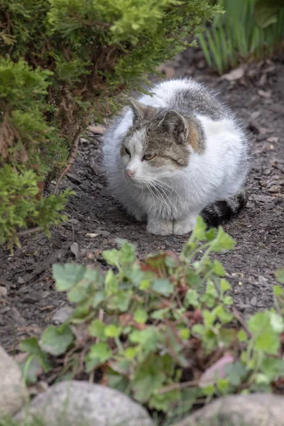
[[[246,206],[247,200],[246,190],[241,190],[233,197],[209,204],[200,214],[208,226],[219,226],[237,217]]]

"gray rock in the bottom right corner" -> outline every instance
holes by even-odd
[[[284,426],[284,396],[271,393],[219,398],[174,426]]]

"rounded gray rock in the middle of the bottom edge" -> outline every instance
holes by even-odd
[[[85,381],[65,381],[37,395],[16,420],[40,416],[48,426],[153,426],[131,398]]]

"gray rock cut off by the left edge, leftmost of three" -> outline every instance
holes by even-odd
[[[28,398],[21,370],[0,346],[0,417],[14,415]]]

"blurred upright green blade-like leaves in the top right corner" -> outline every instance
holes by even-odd
[[[266,58],[284,39],[283,0],[218,0],[226,13],[199,35],[204,57],[219,74],[250,58]],[[281,7],[280,7],[281,6]]]

